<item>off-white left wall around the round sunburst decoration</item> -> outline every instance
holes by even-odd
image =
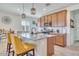
[[[11,18],[11,23],[10,24],[2,23],[3,16],[9,16]],[[21,23],[21,19],[18,15],[14,15],[14,14],[0,11],[0,29],[4,28],[5,30],[9,30],[11,28],[12,30],[16,30],[16,31],[22,30],[20,23]]]

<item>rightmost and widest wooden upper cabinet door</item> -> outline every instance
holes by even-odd
[[[57,13],[58,26],[66,26],[66,11]]]

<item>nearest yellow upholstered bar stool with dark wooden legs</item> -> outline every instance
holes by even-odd
[[[12,37],[12,45],[14,49],[14,53],[19,56],[28,55],[28,52],[33,51],[33,56],[35,55],[34,49],[36,47],[35,44],[24,43],[18,36],[11,34]]]

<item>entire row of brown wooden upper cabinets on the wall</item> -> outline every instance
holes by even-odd
[[[67,11],[52,13],[46,16],[40,17],[40,26],[49,24],[52,27],[66,27],[66,15]],[[38,22],[39,23],[39,22]]]

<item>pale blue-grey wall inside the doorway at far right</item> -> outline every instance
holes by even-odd
[[[79,9],[72,11],[74,13],[74,23],[75,23],[75,40],[79,40]]]

